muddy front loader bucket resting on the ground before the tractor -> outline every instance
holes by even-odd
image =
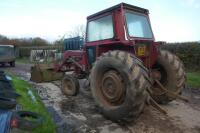
[[[63,77],[63,72],[56,72],[49,67],[41,67],[40,65],[35,65],[31,67],[31,81],[36,83],[50,82],[55,80],[60,80]]]

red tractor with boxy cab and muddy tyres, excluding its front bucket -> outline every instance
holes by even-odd
[[[134,120],[149,103],[166,104],[185,85],[184,66],[155,42],[149,11],[121,3],[87,17],[85,44],[66,46],[56,70],[73,71],[62,80],[62,91],[76,95],[77,79],[88,78],[101,112],[107,118]],[[181,97],[181,96],[180,96]]]

